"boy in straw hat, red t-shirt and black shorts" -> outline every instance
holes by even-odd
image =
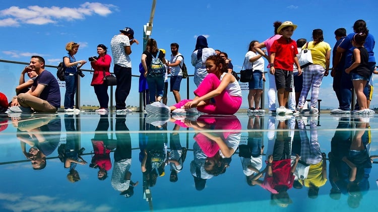
[[[298,62],[297,44],[291,39],[297,25],[290,21],[285,21],[277,29],[277,33],[282,37],[275,40],[270,48],[270,73],[276,79],[277,99],[279,108],[276,109],[277,114],[292,114],[293,112],[285,108],[289,92],[292,90],[293,63],[298,67],[298,76],[302,74]]]

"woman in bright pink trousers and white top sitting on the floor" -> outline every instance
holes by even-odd
[[[183,113],[198,111],[209,114],[232,115],[241,105],[241,89],[235,77],[227,73],[227,66],[220,56],[209,56],[206,60],[206,69],[209,75],[194,91],[193,100],[182,100],[167,107],[155,102],[146,106],[148,113]],[[176,110],[177,109],[177,110]],[[175,111],[176,110],[176,111]]]

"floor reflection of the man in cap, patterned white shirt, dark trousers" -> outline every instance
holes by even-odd
[[[117,136],[117,147],[114,152],[114,167],[111,174],[111,186],[117,191],[120,191],[120,195],[125,197],[131,197],[134,194],[134,186],[138,185],[137,182],[131,180],[132,173],[129,171],[131,167],[131,137],[126,126],[126,115],[116,115],[115,120],[115,134]],[[117,132],[122,131],[122,132]]]

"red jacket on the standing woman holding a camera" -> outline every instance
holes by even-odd
[[[109,54],[105,54],[102,57],[98,57],[96,61],[91,62],[91,66],[94,70],[91,86],[102,85],[104,83],[104,68],[105,76],[109,76],[111,57]]]

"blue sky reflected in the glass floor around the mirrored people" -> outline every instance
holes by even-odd
[[[85,153],[93,150],[90,139],[94,136],[99,116],[95,114],[81,114],[80,123],[82,133],[81,146],[86,148]],[[242,129],[246,130],[248,117],[245,114],[237,115]],[[330,151],[331,138],[335,134],[334,129],[338,122],[333,117],[321,114],[321,126],[318,127],[319,142],[322,152]],[[267,117],[264,120],[263,129],[267,128]],[[139,114],[128,115],[126,124],[130,130],[139,129]],[[62,133],[65,137],[64,119],[61,120]],[[115,121],[113,120],[113,125]],[[377,128],[378,121],[371,118],[371,128]],[[173,129],[173,124],[168,123],[168,130]],[[186,129],[181,128],[180,141],[183,147],[193,148],[194,140],[193,131],[190,129],[188,140],[186,140]],[[9,161],[25,160],[21,150],[20,142],[16,138],[16,128],[9,125],[5,131],[0,132],[0,163]],[[372,130],[372,137],[376,137],[378,132]],[[110,129],[108,131],[110,134]],[[248,133],[242,132],[242,139],[246,139]],[[109,136],[110,137],[110,136]],[[115,138],[115,135],[113,135]],[[135,187],[135,194],[131,198],[125,198],[115,191],[111,184],[111,171],[108,171],[108,178],[104,181],[97,179],[97,170],[89,168],[87,165],[78,165],[77,170],[81,180],[71,183],[67,180],[68,170],[63,168],[63,164],[58,159],[48,159],[47,166],[43,170],[34,171],[30,162],[0,165],[0,210],[2,211],[141,211],[149,210],[148,202],[143,199],[142,192],[142,173],[141,163],[138,160],[139,145],[138,134],[131,133],[132,147],[137,148],[132,151],[132,180],[139,181]],[[266,132],[263,134],[264,144],[267,145]],[[187,143],[186,143],[187,142]],[[187,144],[187,145],[186,145]],[[169,147],[169,142],[168,142]],[[378,155],[376,151],[377,144],[373,139],[371,144],[371,155]],[[27,146],[27,150],[28,150]],[[56,157],[56,150],[49,157]],[[89,163],[91,154],[83,156]],[[113,153],[110,154],[113,163]],[[194,186],[194,180],[190,173],[190,162],[193,160],[193,152],[188,151],[183,170],[178,174],[178,181],[169,182],[169,166],[165,168],[165,176],[159,177],[157,184],[151,187],[152,201],[154,209],[172,209],[181,210],[182,208],[191,207],[191,210],[204,211],[206,209],[214,210],[271,210],[269,203],[270,194],[261,187],[250,187],[246,184],[245,176],[242,172],[242,166],[238,154],[233,155],[230,167],[224,174],[207,180],[206,187],[202,191],[197,191]],[[265,167],[265,165],[263,166]],[[376,209],[374,198],[377,194],[375,180],[378,179],[378,173],[373,169],[370,174],[370,189],[361,200],[358,210]],[[308,206],[316,207],[318,211],[344,210],[347,208],[347,196],[342,195],[340,200],[332,200],[329,197],[331,186],[329,182],[320,188],[317,199],[307,197],[307,189],[290,189],[288,191],[293,200],[289,209],[307,208]],[[253,209],[252,209],[253,208]],[[183,210],[183,209],[182,209]],[[311,210],[311,209],[310,209]]]

